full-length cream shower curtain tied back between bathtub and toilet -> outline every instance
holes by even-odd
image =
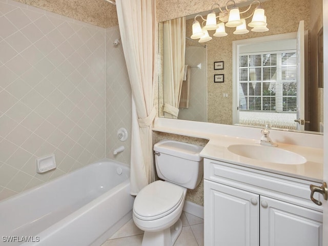
[[[116,0],[119,31],[132,89],[130,193],[154,181],[155,1]]]

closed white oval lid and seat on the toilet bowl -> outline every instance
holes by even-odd
[[[161,180],[150,183],[136,196],[134,215],[142,220],[153,220],[174,211],[183,199],[183,189]]]

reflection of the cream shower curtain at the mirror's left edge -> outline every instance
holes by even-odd
[[[177,118],[185,68],[185,17],[163,23],[163,50],[164,116]]]

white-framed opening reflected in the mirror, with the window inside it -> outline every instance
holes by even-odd
[[[233,124],[296,129],[296,34],[233,42]]]

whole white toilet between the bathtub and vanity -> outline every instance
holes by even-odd
[[[203,147],[173,140],[154,145],[160,179],[136,196],[133,221],[145,231],[142,246],[172,246],[182,230],[180,216],[187,189],[195,189],[203,175]]]

